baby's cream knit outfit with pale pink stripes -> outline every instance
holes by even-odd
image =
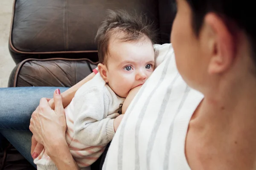
[[[80,168],[90,169],[113,139],[113,119],[119,116],[123,102],[124,98],[117,96],[100,74],[96,74],[78,89],[65,108],[66,140]],[[44,150],[34,162],[38,169],[57,170]]]

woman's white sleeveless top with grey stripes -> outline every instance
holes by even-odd
[[[171,44],[156,45],[161,64],[145,82],[112,140],[103,170],[189,170],[184,146],[203,99],[177,71]]]

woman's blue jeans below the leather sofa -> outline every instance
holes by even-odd
[[[34,166],[30,155],[30,117],[40,99],[52,98],[55,89],[56,87],[0,88],[0,133]],[[68,88],[59,89],[63,92]]]

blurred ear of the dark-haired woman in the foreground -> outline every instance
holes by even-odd
[[[212,41],[210,42],[211,58],[209,60],[209,74],[223,73],[232,66],[235,59],[234,36],[227,27],[224,20],[214,14],[205,16],[205,24],[212,30]]]

